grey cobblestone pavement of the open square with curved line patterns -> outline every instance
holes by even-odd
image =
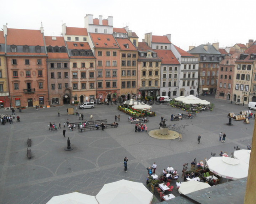
[[[231,154],[234,146],[246,148],[251,144],[254,120],[250,124],[243,121],[228,123],[229,112],[240,113],[247,106],[239,106],[203,96],[215,104],[214,110],[198,113],[193,119],[170,121],[172,113],[183,111],[167,106],[153,104],[156,117],[150,117],[148,131],[159,128],[161,116],[168,119],[167,125],[181,132],[183,141],[158,140],[145,132],[134,132],[134,124],[128,122],[128,115],[119,112],[117,105],[96,104],[94,109],[79,110],[85,119],[107,119],[114,121],[115,114],[121,114],[118,128],[104,131],[93,130],[78,132],[62,129],[49,131],[49,122],[79,121],[78,116],[67,115],[66,108],[73,106],[34,108],[22,110],[20,123],[1,125],[0,148],[0,203],[5,204],[44,204],[53,196],[78,191],[96,196],[105,183],[127,179],[146,183],[146,167],[156,162],[156,173],[171,165],[181,175],[184,163],[194,158],[204,160],[211,153],[220,151]],[[60,117],[58,117],[58,109]],[[17,112],[17,111],[16,111]],[[254,113],[254,111],[253,111]],[[11,111],[0,110],[0,114]],[[219,132],[226,133],[226,142],[219,142]],[[202,136],[200,144],[197,136]],[[32,138],[32,158],[27,159],[27,138]],[[73,151],[65,151],[67,137],[70,138]],[[128,171],[124,172],[123,158],[128,157]],[[174,183],[172,184],[174,185]],[[177,191],[173,192],[178,196]],[[154,200],[155,203],[157,201]]]

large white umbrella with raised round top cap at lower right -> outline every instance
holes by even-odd
[[[211,157],[207,160],[210,171],[226,179],[242,179],[248,176],[249,164],[231,157]]]

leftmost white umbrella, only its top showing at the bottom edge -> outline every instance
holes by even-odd
[[[98,204],[94,196],[74,192],[54,196],[46,204]]]

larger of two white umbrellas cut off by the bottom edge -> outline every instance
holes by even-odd
[[[96,199],[99,204],[150,204],[153,194],[142,183],[123,179],[105,184]]]

